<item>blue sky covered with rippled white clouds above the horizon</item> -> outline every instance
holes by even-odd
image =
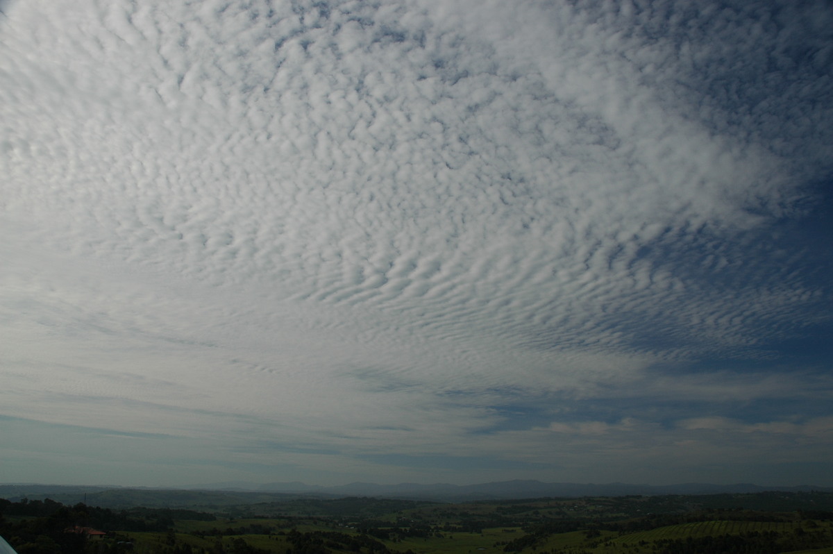
[[[833,486],[828,2],[0,4],[0,482]]]

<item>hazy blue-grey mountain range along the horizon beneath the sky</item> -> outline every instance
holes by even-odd
[[[117,487],[117,486],[61,486],[35,483],[0,484],[0,498],[30,500],[52,498],[57,502],[74,504],[88,502],[99,506],[154,506],[168,507],[194,504],[254,504],[285,501],[292,497],[381,497],[435,502],[468,502],[476,500],[510,500],[540,497],[622,497],[628,495],[701,495],[741,494],[755,492],[833,492],[833,487],[802,485],[798,487],[762,487],[751,483],[715,485],[710,483],[682,483],[678,485],[631,485],[626,483],[548,483],[540,481],[504,481],[476,485],[435,483],[421,485],[400,483],[379,485],[354,482],[339,487],[320,487],[302,482],[222,482],[203,483],[179,488]],[[87,496],[89,499],[87,499]]]

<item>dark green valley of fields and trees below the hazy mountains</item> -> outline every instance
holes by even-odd
[[[831,554],[833,494],[294,498],[214,510],[0,499],[0,535],[19,554]]]

